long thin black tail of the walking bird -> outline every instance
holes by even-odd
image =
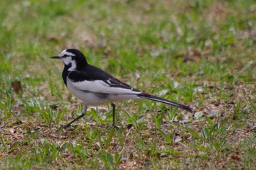
[[[169,104],[169,105],[172,105],[174,107],[179,107],[181,109],[187,110],[188,112],[193,112],[192,108],[187,107],[187,106],[185,106],[183,104],[177,104],[177,103],[175,103],[173,101],[169,101],[169,100],[167,100],[165,98],[159,98],[157,96],[152,96],[152,95],[146,94],[146,93],[138,94],[138,96],[140,98],[145,98],[145,99],[148,99],[148,100],[151,100],[151,101],[159,101],[159,102],[164,103],[164,104]]]

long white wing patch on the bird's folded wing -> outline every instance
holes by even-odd
[[[67,81],[69,81],[70,85],[74,86],[75,88],[78,88],[78,90],[85,90],[85,91],[91,91],[95,93],[108,93],[108,94],[140,94],[142,92],[140,91],[133,91],[131,89],[127,88],[117,88],[117,87],[110,87],[106,82],[103,82],[102,80],[94,80],[94,81],[88,81],[84,80],[83,82],[72,82],[67,78]]]

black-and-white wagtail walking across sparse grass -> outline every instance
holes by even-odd
[[[114,102],[125,99],[148,99],[192,112],[192,108],[190,107],[165,98],[143,93],[143,91],[132,88],[130,85],[121,82],[121,80],[118,80],[102,69],[90,65],[80,50],[66,49],[61,51],[59,55],[54,55],[50,58],[60,59],[64,63],[64,70],[62,72],[64,84],[83,103],[81,115],[62,128],[69,127],[72,123],[86,115],[88,107],[107,103],[110,103],[113,107],[112,125],[115,127],[116,104]]]

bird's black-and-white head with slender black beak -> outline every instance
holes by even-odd
[[[80,50],[77,49],[66,49],[61,51],[59,55],[50,57],[50,58],[59,58],[63,61],[67,70],[72,72],[84,66],[87,66],[87,61],[85,56]]]

